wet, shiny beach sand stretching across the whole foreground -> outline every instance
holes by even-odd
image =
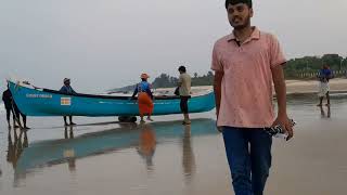
[[[317,107],[316,95],[288,100],[295,138],[273,141],[266,194],[345,194],[347,96]],[[230,173],[214,112],[154,117],[145,126],[115,118],[28,118],[33,129],[15,141],[1,114],[0,194],[230,195]],[[20,133],[17,134],[18,136]]]

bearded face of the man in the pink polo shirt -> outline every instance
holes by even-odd
[[[229,23],[235,29],[242,29],[250,25],[253,9],[249,9],[247,4],[229,4],[227,11]]]

